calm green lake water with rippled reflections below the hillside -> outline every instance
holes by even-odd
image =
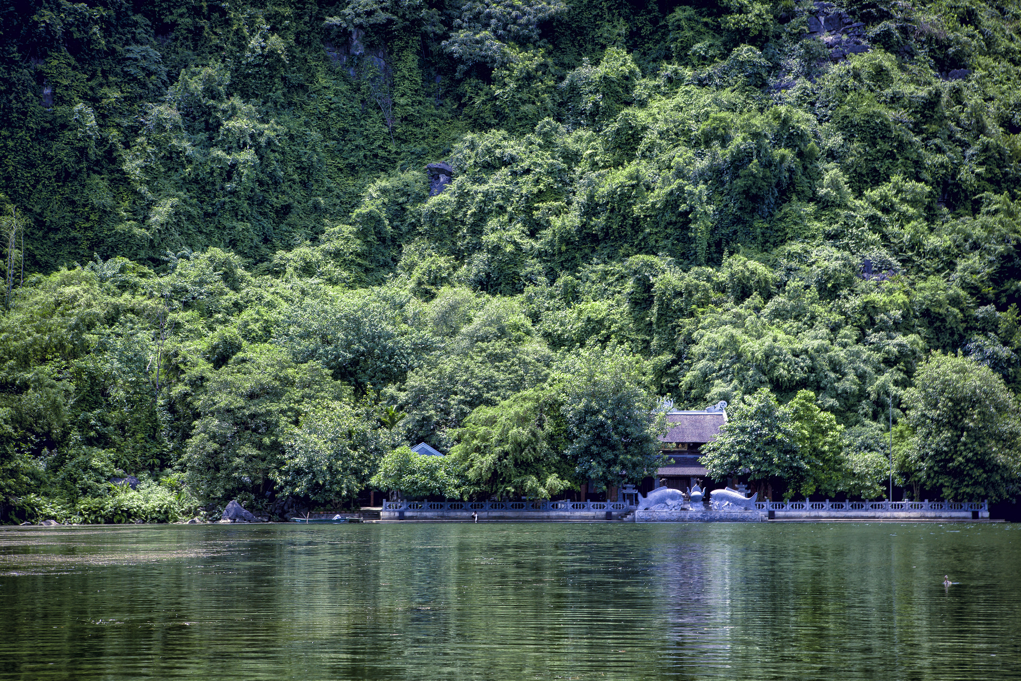
[[[18,528],[0,595],[0,679],[1021,678],[1021,525]]]

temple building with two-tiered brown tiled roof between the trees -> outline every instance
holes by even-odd
[[[668,404],[668,408],[666,417],[670,430],[660,436],[660,449],[669,457],[668,464],[657,471],[655,479],[642,481],[643,494],[663,486],[681,490],[692,487],[695,482],[704,486],[706,467],[698,463],[701,446],[712,442],[727,423],[727,403],[723,401],[702,410],[678,410],[672,404]],[[671,459],[673,463],[669,463]]]

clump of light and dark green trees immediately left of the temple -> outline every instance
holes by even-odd
[[[580,481],[610,491],[651,475],[665,429],[639,368],[621,353],[566,355],[543,387],[477,407],[452,434],[466,491],[545,499]]]

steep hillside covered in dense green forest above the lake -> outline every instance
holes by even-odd
[[[892,421],[909,496],[1012,498],[1019,20],[3,5],[2,520],[604,490],[668,396],[718,480],[881,496]]]

